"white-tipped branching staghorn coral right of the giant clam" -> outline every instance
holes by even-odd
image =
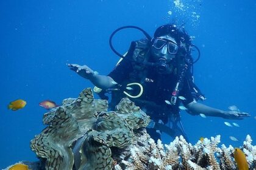
[[[222,144],[221,148],[218,148],[220,143],[220,136],[215,138],[207,138],[203,142],[200,140],[193,146],[187,143],[185,139],[180,136],[176,137],[170,144],[165,144],[163,147],[160,140],[157,144],[145,134],[135,141],[133,153],[130,157],[126,157],[126,161],[118,161],[115,165],[115,169],[236,169],[236,164],[233,158],[234,148],[229,146],[226,148]],[[255,146],[251,144],[252,140],[249,135],[244,141],[243,148],[247,148],[246,158],[249,163],[250,169],[255,169]],[[251,149],[249,149],[251,148]],[[135,152],[135,153],[134,153]],[[137,153],[136,153],[137,152]],[[137,155],[134,157],[133,155]],[[143,157],[141,157],[143,155]],[[254,157],[252,156],[254,155]],[[146,161],[148,158],[148,161]]]

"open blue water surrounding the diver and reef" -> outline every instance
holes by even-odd
[[[137,25],[152,35],[174,19],[187,22],[185,29],[201,50],[194,76],[207,97],[204,104],[223,110],[235,104],[252,115],[232,121],[182,112],[191,143],[220,134],[221,143],[241,146],[250,134],[255,145],[256,1],[180,1],[187,10],[167,0],[0,1],[0,168],[37,160],[29,142],[44,128],[46,110],[38,106],[40,101],[60,104],[93,86],[66,63],[87,64],[107,74],[119,60],[108,46],[113,30]],[[124,30],[114,44],[123,53],[130,41],[141,37],[136,30]],[[8,110],[7,104],[16,99],[26,100],[27,106]],[[240,127],[228,127],[224,121]]]

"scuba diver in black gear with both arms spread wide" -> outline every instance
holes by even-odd
[[[121,29],[141,30],[146,39],[133,41],[123,56],[112,46],[113,35]],[[110,109],[115,109],[121,98],[128,97],[136,106],[151,117],[147,132],[155,141],[166,132],[172,138],[187,135],[180,121],[180,109],[191,115],[204,114],[226,119],[243,119],[249,114],[234,110],[224,111],[197,103],[205,97],[194,84],[191,51],[199,49],[191,42],[184,29],[174,24],[166,24],[155,30],[151,38],[144,30],[134,27],[121,27],[110,36],[110,47],[121,57],[116,67],[108,75],[99,75],[90,67],[68,64],[69,69],[90,80],[96,87],[99,97],[111,92]],[[200,56],[200,52],[199,52]],[[183,106],[181,106],[183,104]]]

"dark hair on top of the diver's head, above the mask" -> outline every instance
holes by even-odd
[[[157,38],[159,36],[164,36],[164,35],[169,35],[173,37],[177,44],[180,46],[181,44],[185,43],[186,49],[188,52],[190,51],[191,48],[191,38],[188,35],[187,32],[185,32],[185,29],[179,29],[176,25],[174,24],[166,24],[162,25],[155,30],[154,33],[154,38]]]

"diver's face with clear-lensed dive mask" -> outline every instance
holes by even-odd
[[[168,35],[159,36],[154,39],[151,54],[155,61],[162,59],[169,63],[176,56],[178,49],[179,46],[174,38]]]

